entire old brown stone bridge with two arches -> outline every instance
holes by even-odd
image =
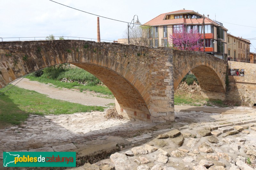
[[[115,96],[118,113],[139,122],[174,120],[174,91],[190,70],[205,95],[225,98],[227,61],[212,55],[78,40],[0,42],[0,87],[60,63],[95,75]]]

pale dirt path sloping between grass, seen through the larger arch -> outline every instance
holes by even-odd
[[[16,84],[14,82],[13,84]],[[34,90],[41,94],[46,94],[48,97],[52,99],[65,100],[73,103],[79,103],[87,106],[104,106],[106,107],[109,103],[115,103],[114,99],[105,99],[101,97],[95,97],[97,95],[106,96],[100,93],[95,92],[78,92],[66,88],[56,88],[50,86],[50,84],[39,83],[37,81],[30,81],[28,78],[23,78],[19,83],[17,83],[18,87]]]

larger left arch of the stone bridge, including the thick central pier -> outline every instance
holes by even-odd
[[[165,122],[174,119],[170,54],[164,48],[78,40],[0,42],[0,87],[36,70],[72,63],[108,86],[120,114]]]

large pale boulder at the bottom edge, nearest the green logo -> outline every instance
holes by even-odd
[[[116,152],[110,155],[110,160],[115,165],[115,169],[123,169],[123,170],[132,169],[132,165],[127,164],[127,162],[130,162],[130,160],[124,154]]]

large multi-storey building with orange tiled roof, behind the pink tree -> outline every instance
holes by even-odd
[[[204,22],[204,31],[202,29]],[[196,29],[205,37],[205,52],[218,58],[227,58],[227,29],[222,23],[214,21],[198,12],[179,10],[163,13],[151,19],[144,25],[151,26],[149,30],[149,46],[172,46],[169,35],[174,29],[186,26],[187,30]],[[213,42],[216,43],[213,43]]]

